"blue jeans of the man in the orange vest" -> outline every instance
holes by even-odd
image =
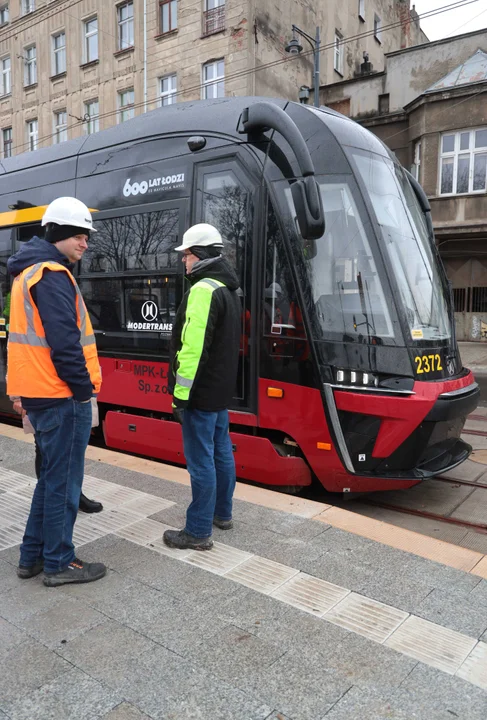
[[[91,403],[66,398],[45,410],[29,410],[42,457],[29,519],[20,546],[20,564],[44,557],[47,573],[74,560],[73,527],[91,432]]]

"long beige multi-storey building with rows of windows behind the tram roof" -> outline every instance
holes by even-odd
[[[292,24],[321,28],[321,81],[348,79],[363,54],[423,42],[409,0],[0,0],[0,151],[35,150],[159,105],[312,86],[312,47],[285,46]],[[306,52],[309,51],[309,52]]]

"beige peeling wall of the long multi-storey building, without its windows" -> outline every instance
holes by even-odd
[[[321,81],[353,77],[369,53],[375,69],[384,66],[384,53],[424,40],[411,20],[409,0],[366,0],[366,17],[358,17],[358,0],[227,0],[221,32],[202,37],[202,0],[178,1],[177,30],[161,35],[159,0],[147,0],[147,109],[158,105],[159,79],[177,74],[178,101],[201,96],[202,65],[224,58],[225,94],[270,95],[298,99],[301,85],[313,85],[312,56],[289,58],[284,48],[294,23],[314,37],[321,27]],[[84,104],[98,100],[100,129],[117,122],[118,92],[134,89],[135,114],[143,112],[143,1],[133,0],[134,48],[117,53],[116,3],[81,0],[76,13],[71,2],[37,0],[36,11],[20,15],[20,0],[10,0],[10,23],[0,28],[0,56],[10,55],[12,93],[0,98],[0,130],[13,129],[14,152],[26,149],[26,122],[37,119],[39,146],[50,145],[55,112],[68,113],[68,136],[84,132]],[[69,14],[68,14],[69,13]],[[344,38],[373,30],[374,15],[384,31],[380,42],[372,35],[344,44],[343,76],[334,70],[335,30]],[[82,24],[98,17],[99,61],[83,65]],[[397,27],[386,30],[390,22]],[[50,36],[66,33],[67,74],[52,78]],[[36,44],[36,86],[24,90],[23,52]],[[310,46],[303,41],[305,50]],[[269,63],[276,63],[269,67]],[[2,148],[0,148],[2,150]]]

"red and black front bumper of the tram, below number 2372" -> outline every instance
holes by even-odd
[[[468,458],[472,448],[460,436],[480,396],[471,373],[461,380],[415,383],[414,390],[407,398],[335,392],[349,472],[421,480]]]

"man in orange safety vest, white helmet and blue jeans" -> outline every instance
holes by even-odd
[[[20,397],[42,456],[17,574],[26,579],[44,570],[44,584],[55,587],[106,574],[102,563],[79,560],[73,546],[91,397],[100,390],[101,373],[91,321],[72,274],[94,231],[91,214],[76,198],[58,198],[42,225],[45,239],[32,238],[8,261],[15,279],[7,393]]]

